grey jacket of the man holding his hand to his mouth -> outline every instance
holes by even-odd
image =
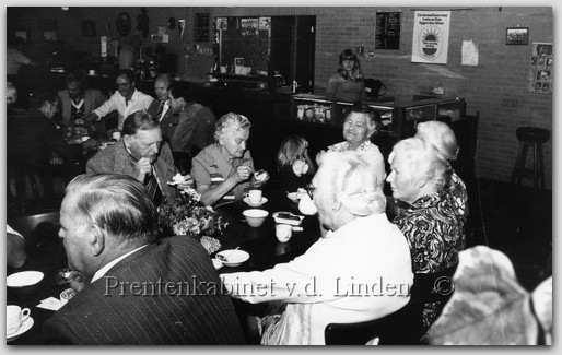
[[[168,201],[174,201],[178,190],[166,182],[173,180],[173,176],[176,175],[177,169],[174,165],[169,146],[166,143],[160,149],[160,155],[154,162],[154,170],[160,180],[162,193]],[[97,152],[96,155],[87,161],[86,173],[122,174],[137,178],[134,163],[132,163],[131,156],[129,152],[127,152],[122,140]]]

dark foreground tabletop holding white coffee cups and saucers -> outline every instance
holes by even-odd
[[[229,226],[221,237],[221,250],[239,249],[247,251],[250,258],[242,265],[236,268],[223,267],[218,272],[237,272],[237,271],[260,271],[272,268],[277,263],[288,262],[295,257],[304,253],[308,247],[314,244],[320,236],[318,218],[316,216],[306,216],[301,226],[302,232],[293,232],[292,238],[288,242],[279,242],[276,238],[274,221],[271,216],[277,211],[289,211],[298,213],[296,203],[289,200],[283,192],[264,192],[268,198],[268,202],[261,209],[269,212],[269,216],[260,227],[250,227],[244,221],[242,212],[249,209],[242,201],[224,204],[216,208],[216,211],[229,222]],[[54,311],[37,308],[36,306],[42,299],[48,297],[58,298],[60,293],[68,288],[68,285],[57,285],[57,270],[67,267],[67,257],[62,246],[62,239],[58,238],[57,224],[42,224],[39,235],[40,239],[31,238],[33,240],[27,246],[27,261],[23,268],[8,269],[8,275],[25,271],[36,270],[45,274],[44,279],[34,289],[22,293],[14,292],[11,287],[7,287],[7,304],[17,305],[22,308],[31,309],[31,317],[34,319],[33,327],[21,334],[17,339],[8,342],[9,345],[34,345],[40,344],[43,323],[54,315]],[[245,322],[247,309],[245,305],[235,300],[241,323]]]

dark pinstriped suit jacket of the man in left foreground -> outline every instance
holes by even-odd
[[[198,292],[194,281],[201,285]],[[140,285],[145,285],[144,291]],[[215,292],[211,285],[216,285]],[[169,237],[128,256],[79,292],[45,322],[43,341],[83,345],[243,344],[232,300],[220,289],[219,275],[203,247],[190,237]]]

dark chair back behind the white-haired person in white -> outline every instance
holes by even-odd
[[[324,330],[326,345],[365,345],[378,338],[378,345],[419,345],[410,329],[411,303],[383,318],[356,323],[329,323]]]

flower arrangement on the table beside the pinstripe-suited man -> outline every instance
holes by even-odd
[[[227,223],[200,198],[195,189],[187,189],[175,201],[164,199],[159,208],[159,223],[165,236],[197,238],[211,255],[221,249],[216,238],[222,236]]]

